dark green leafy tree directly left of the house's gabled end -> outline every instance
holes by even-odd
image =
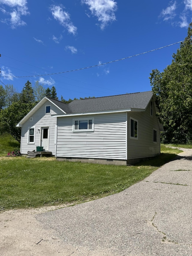
[[[20,143],[21,128],[16,125],[34,106],[34,103],[14,102],[0,110],[0,134],[10,133]]]

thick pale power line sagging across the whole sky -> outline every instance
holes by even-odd
[[[106,65],[106,64],[110,64],[110,63],[113,63],[113,62],[117,62],[117,61],[120,61],[120,60],[124,60],[124,59],[129,59],[129,58],[132,58],[132,57],[136,57],[136,56],[139,56],[139,55],[142,55],[142,54],[146,54],[146,53],[151,53],[153,51],[156,51],[156,50],[160,50],[160,49],[163,49],[165,47],[169,47],[169,46],[172,46],[174,44],[179,44],[179,43],[182,43],[184,41],[187,41],[187,40],[190,40],[191,38],[188,38],[188,39],[185,39],[185,40],[182,40],[182,41],[179,41],[179,42],[176,42],[176,43],[173,43],[173,44],[169,44],[169,45],[166,45],[166,46],[163,46],[163,47],[159,47],[159,48],[156,48],[156,49],[153,49],[153,50],[150,50],[150,51],[147,51],[147,52],[144,52],[144,53],[138,53],[138,54],[135,54],[135,55],[132,55],[132,56],[128,56],[128,57],[125,57],[125,58],[122,58],[122,59],[117,59],[117,60],[113,60],[113,61],[109,61],[109,62],[105,62],[105,63],[100,63],[98,65],[93,65],[93,66],[89,66],[89,67],[86,67],[86,68],[78,68],[78,69],[73,69],[73,70],[68,70],[68,71],[62,71],[62,72],[57,72],[57,73],[51,73],[51,74],[43,74],[43,75],[34,75],[34,76],[14,76],[15,78],[22,78],[22,77],[43,77],[43,76],[51,76],[51,75],[58,75],[58,74],[64,74],[64,73],[69,73],[69,72],[73,72],[73,71],[79,71],[79,70],[83,70],[83,69],[87,69],[87,68],[94,68],[94,67],[98,67],[98,66],[101,66],[101,65]],[[4,76],[5,77],[5,76]],[[11,77],[11,76],[10,76]]]

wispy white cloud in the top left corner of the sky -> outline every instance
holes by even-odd
[[[0,10],[10,18],[2,20],[2,22],[11,25],[12,29],[18,26],[25,26],[26,22],[21,20],[21,16],[29,14],[26,0],[0,0],[0,4],[8,6],[9,10],[1,8]]]

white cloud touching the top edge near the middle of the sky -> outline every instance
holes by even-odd
[[[117,3],[114,0],[81,0],[81,2],[89,6],[91,14],[100,22],[101,29],[116,20]]]

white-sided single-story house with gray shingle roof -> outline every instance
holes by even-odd
[[[152,91],[75,100],[43,98],[16,126],[21,154],[42,146],[58,160],[131,164],[160,153]]]

